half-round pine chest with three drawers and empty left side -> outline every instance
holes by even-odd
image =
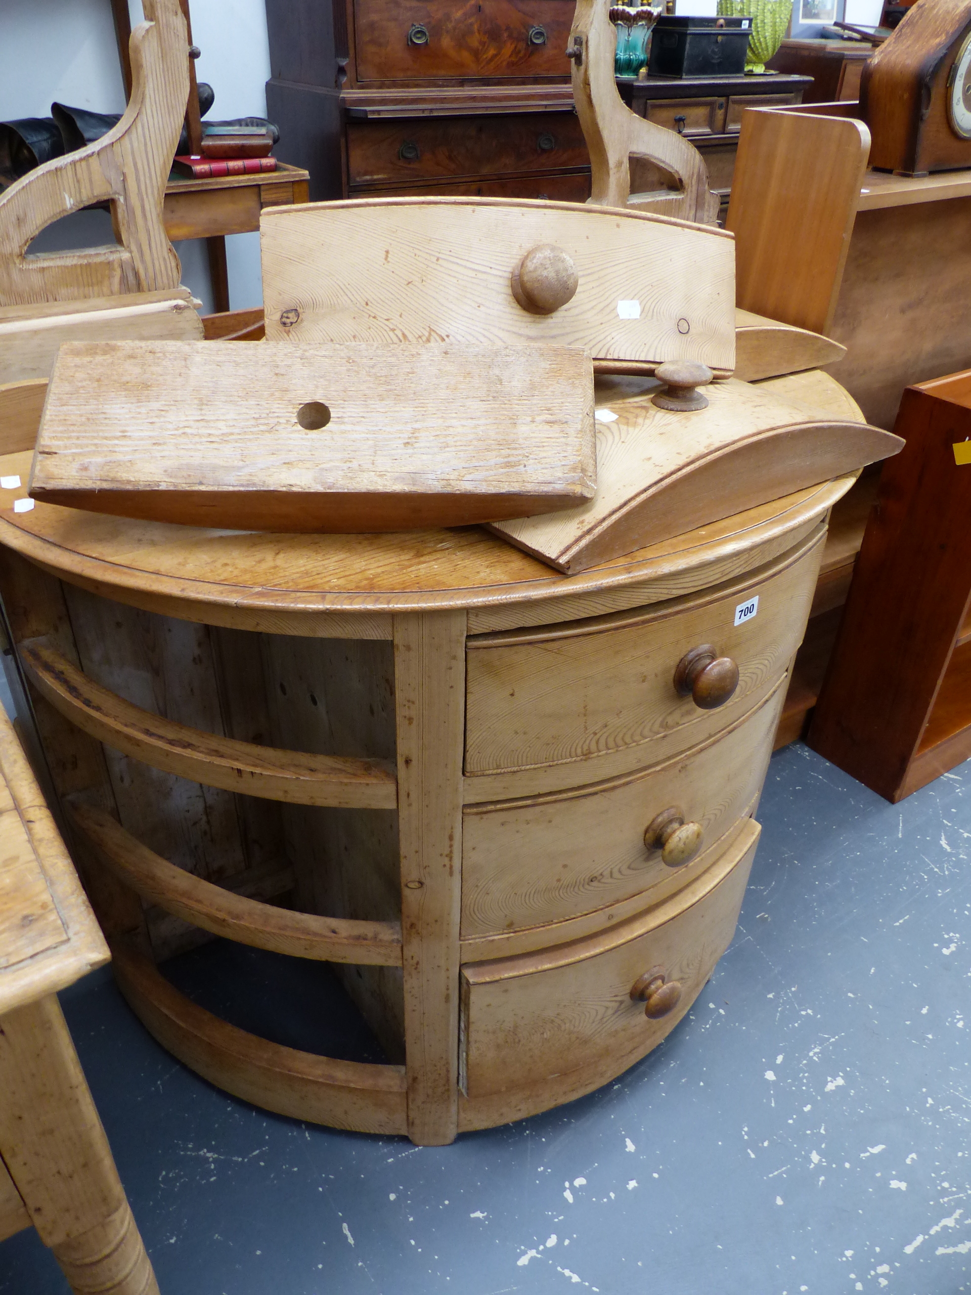
[[[0,492],[25,717],[135,1011],[240,1097],[417,1143],[645,1055],[731,939],[851,480],[574,576],[479,528],[207,531]],[[192,1002],[164,962],[207,934],[331,963],[388,1063]]]

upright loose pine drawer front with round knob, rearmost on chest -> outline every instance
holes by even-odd
[[[574,260],[579,286],[531,315],[510,276],[546,243]],[[557,202],[372,198],[265,211],[260,247],[271,341],[546,342],[611,365],[734,368],[733,247],[719,229]],[[620,300],[638,300],[640,319],[621,319]]]

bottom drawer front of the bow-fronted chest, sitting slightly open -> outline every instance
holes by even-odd
[[[757,824],[747,824],[721,864],[605,935],[465,966],[466,1096],[514,1093],[554,1076],[562,1085],[571,1071],[589,1072],[594,1088],[659,1044],[731,941],[757,839]],[[653,1019],[631,991],[655,969],[681,993],[667,1014]]]

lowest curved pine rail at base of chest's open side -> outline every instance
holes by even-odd
[[[268,1042],[198,1008],[124,941],[118,985],[163,1048],[198,1075],[280,1115],[359,1133],[408,1133],[405,1068],[334,1061]]]

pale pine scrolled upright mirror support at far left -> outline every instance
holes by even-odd
[[[177,0],[145,0],[132,32],[132,96],[120,122],[38,167],[0,198],[0,382],[45,378],[63,341],[201,338],[162,223],[166,179],[189,92]],[[49,224],[110,202],[118,242],[31,255]]]

